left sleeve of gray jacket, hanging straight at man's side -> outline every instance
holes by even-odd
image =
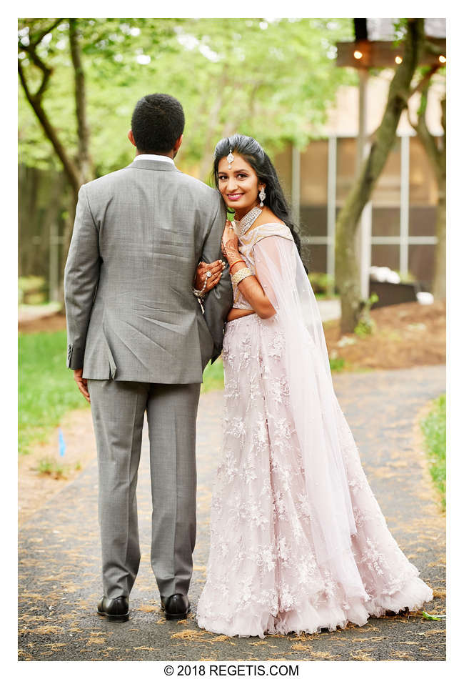
[[[85,187],[79,190],[73,235],[64,268],[64,303],[68,334],[67,367],[84,366],[87,329],[100,274],[99,231]]]

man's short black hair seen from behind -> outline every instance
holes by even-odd
[[[183,133],[180,101],[169,94],[147,94],[133,109],[131,127],[138,151],[168,153]]]

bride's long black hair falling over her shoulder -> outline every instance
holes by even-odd
[[[285,222],[291,230],[293,239],[301,252],[301,242],[298,233],[296,232],[296,224],[291,218],[290,208],[283,194],[280,182],[278,181],[277,172],[268,154],[266,154],[261,145],[258,144],[253,137],[246,137],[244,134],[234,134],[233,137],[224,137],[214,150],[214,165],[213,175],[216,188],[219,187],[218,179],[218,165],[221,158],[227,157],[230,150],[233,153],[241,155],[246,162],[248,162],[258,175],[258,181],[266,184],[266,198],[264,204],[272,210],[272,212]]]

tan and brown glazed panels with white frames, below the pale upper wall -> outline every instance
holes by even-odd
[[[336,215],[343,207],[355,179],[356,139],[336,138],[336,167],[329,170],[328,139],[317,139],[300,154],[300,214],[298,221],[303,237],[302,258],[313,272],[328,272],[329,249],[335,248],[328,237],[328,184],[329,172],[335,170]],[[406,260],[401,258],[401,147],[407,149],[409,170],[408,207],[406,217],[408,232]],[[292,185],[292,149],[288,147],[275,159],[276,169],[284,187]],[[404,163],[404,160],[403,160]],[[291,193],[287,188],[291,200]],[[403,274],[412,274],[424,289],[430,289],[433,280],[433,252],[435,241],[435,205],[437,185],[422,145],[415,137],[402,142],[397,138],[372,195],[372,237],[370,263],[390,267]],[[403,208],[405,209],[405,208]],[[404,229],[404,227],[403,227]],[[404,231],[403,231],[404,235]],[[419,242],[418,242],[419,240]],[[404,262],[407,262],[405,270]]]

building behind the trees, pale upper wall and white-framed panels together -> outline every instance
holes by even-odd
[[[383,117],[392,76],[393,71],[385,69],[368,80],[368,137],[372,136]],[[431,86],[429,94],[426,119],[430,132],[437,137],[443,134],[440,99],[444,88],[444,79],[443,82],[438,80]],[[410,100],[413,119],[419,104],[418,96]],[[293,204],[291,187],[296,176],[298,181],[299,172],[298,219],[303,237],[302,257],[313,272],[333,274],[335,244],[331,224],[333,232],[333,222],[355,180],[357,134],[358,88],[343,86],[338,91],[336,106],[329,111],[325,136],[311,141],[299,154],[297,163],[295,149],[292,151],[290,146],[275,158],[279,177]],[[412,274],[424,289],[430,289],[438,187],[406,112],[400,119],[397,135],[371,199],[370,264]],[[330,189],[331,186],[333,189]],[[408,187],[406,195],[405,186]]]

